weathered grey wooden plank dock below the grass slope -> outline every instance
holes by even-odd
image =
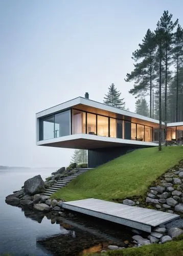
[[[169,214],[168,212],[94,198],[64,202],[62,207],[146,232],[151,232],[151,228],[179,218],[179,215]]]

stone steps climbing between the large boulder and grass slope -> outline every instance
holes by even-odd
[[[59,190],[60,188],[66,186],[68,183],[70,183],[70,181],[74,180],[75,178],[77,178],[79,175],[86,173],[88,170],[90,170],[92,168],[80,168],[80,169],[75,169],[76,173],[69,175],[69,176],[65,176],[63,177],[61,180],[57,180],[55,181],[55,183],[53,185],[51,185],[49,188],[47,188],[44,191],[45,196],[51,196],[53,193],[55,193],[57,190]]]

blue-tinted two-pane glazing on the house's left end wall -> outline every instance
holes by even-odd
[[[39,140],[70,135],[70,110],[39,119]]]

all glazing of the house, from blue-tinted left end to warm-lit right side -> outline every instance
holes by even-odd
[[[158,129],[152,129],[151,126],[72,109],[40,118],[39,140],[70,135],[71,125],[72,134],[90,134],[138,141],[152,141],[152,137],[156,140],[158,133]],[[183,136],[183,126],[181,127],[182,129],[177,133],[178,137]],[[171,129],[171,136],[173,135],[174,132]]]

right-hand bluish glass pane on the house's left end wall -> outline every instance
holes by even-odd
[[[55,138],[70,135],[70,110],[55,115]]]

